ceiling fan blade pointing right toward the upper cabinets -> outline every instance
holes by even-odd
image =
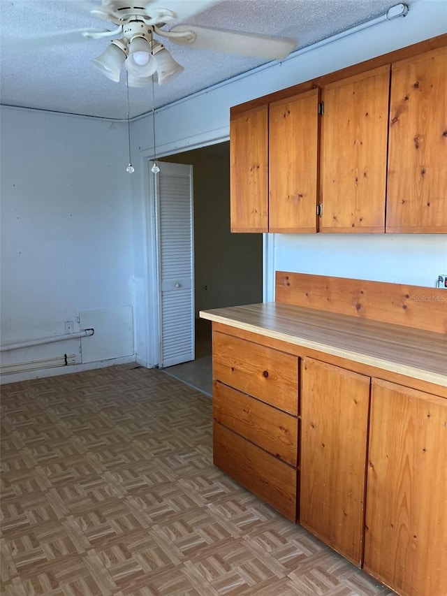
[[[226,29],[210,29],[209,27],[196,27],[196,25],[176,25],[170,31],[192,31],[196,34],[193,41],[185,37],[172,37],[170,41],[179,45],[189,45],[197,50],[211,50],[239,54],[253,58],[270,60],[284,59],[291,53],[297,44],[295,39],[287,37],[273,37],[244,33],[243,31],[228,31]]]

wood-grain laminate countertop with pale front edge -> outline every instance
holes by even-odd
[[[447,335],[282,303],[200,311],[202,319],[447,386]]]

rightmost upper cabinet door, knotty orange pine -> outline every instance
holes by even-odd
[[[387,232],[447,232],[447,48],[392,66]]]

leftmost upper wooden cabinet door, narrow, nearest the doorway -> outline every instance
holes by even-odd
[[[232,232],[268,231],[268,106],[230,118]]]

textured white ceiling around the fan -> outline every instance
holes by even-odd
[[[178,0],[177,0],[178,1]],[[194,0],[193,0],[194,1]],[[405,0],[410,6],[418,0]],[[396,0],[220,0],[185,22],[292,37],[295,50],[386,13]],[[124,77],[105,78],[91,63],[108,39],[27,46],[27,36],[72,29],[114,29],[89,13],[100,0],[0,0],[1,103],[55,112],[123,119],[127,117]],[[170,0],[166,0],[170,8]],[[17,39],[24,38],[24,41]],[[265,62],[234,54],[205,52],[163,39],[184,72],[155,85],[155,106],[165,106]],[[131,117],[152,109],[152,90],[129,89]]]

